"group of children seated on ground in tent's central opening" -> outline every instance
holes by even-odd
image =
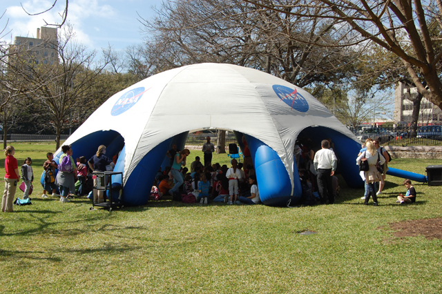
[[[200,161],[195,160],[191,173],[187,168],[182,168],[183,177],[180,194],[195,195],[195,202],[208,204],[209,201],[224,202],[228,204],[258,204],[260,203],[258,184],[253,167],[248,165],[247,170],[242,170],[242,164],[232,159],[232,167],[227,165],[213,164],[213,166],[202,166]],[[175,195],[169,193],[174,186],[175,179],[171,176],[171,168],[167,166],[164,171],[160,170],[155,178],[155,185],[160,195]],[[153,187],[154,188],[154,187]],[[153,198],[151,198],[153,199]]]

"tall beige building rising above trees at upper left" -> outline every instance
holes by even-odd
[[[58,62],[57,28],[37,28],[37,38],[15,37],[11,46],[29,55],[29,63],[53,64]]]

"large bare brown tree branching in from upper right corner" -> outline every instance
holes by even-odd
[[[314,42],[317,46],[367,50],[375,43],[398,57],[403,71],[407,72],[419,93],[441,108],[440,0],[244,1],[265,11],[289,13],[300,19],[335,21],[334,32],[340,36],[339,42],[329,43],[326,39],[319,39]]]

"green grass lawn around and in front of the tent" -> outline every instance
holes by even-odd
[[[55,149],[14,146],[38,178]],[[390,166],[425,174],[434,164],[442,160]],[[89,210],[84,198],[41,199],[36,184],[32,206],[0,213],[0,293],[441,293],[441,240],[395,238],[388,224],[441,217],[442,187],[414,183],[416,204],[401,206],[402,182],[387,177],[378,207],[363,206],[363,189],[340,178],[340,197],[328,206],[164,200],[111,213]],[[317,234],[298,233],[305,230]]]

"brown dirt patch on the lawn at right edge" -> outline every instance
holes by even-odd
[[[385,229],[380,227],[379,229]],[[434,219],[414,219],[405,222],[390,224],[390,228],[398,230],[394,232],[394,237],[416,237],[424,236],[427,239],[442,239],[442,218]]]

